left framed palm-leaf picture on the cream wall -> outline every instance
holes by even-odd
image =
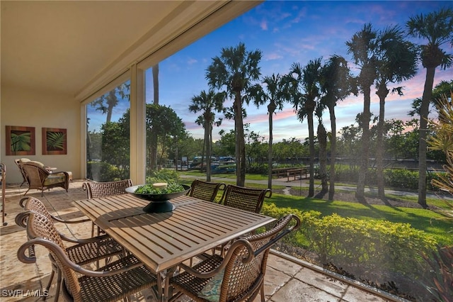
[[[35,127],[6,126],[6,155],[35,155]]]

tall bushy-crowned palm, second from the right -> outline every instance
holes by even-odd
[[[411,79],[417,72],[417,52],[412,43],[404,39],[403,31],[394,26],[379,33],[377,52],[376,94],[379,96],[379,121],[377,123],[377,191],[379,198],[385,199],[384,191],[384,113],[385,99],[389,94],[389,83],[401,83]],[[401,96],[402,87],[392,89]]]

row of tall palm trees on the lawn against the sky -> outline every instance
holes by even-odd
[[[423,45],[415,45],[406,37],[411,36],[423,40]],[[336,158],[336,117],[335,107],[338,101],[350,94],[363,96],[363,111],[357,116],[360,125],[360,172],[357,179],[355,196],[359,200],[365,198],[365,178],[369,166],[369,142],[371,138],[372,113],[370,112],[372,86],[379,96],[379,115],[376,125],[376,162],[378,174],[378,194],[384,195],[384,127],[385,100],[389,93],[403,94],[403,81],[411,79],[417,72],[418,62],[426,69],[423,96],[414,101],[414,111],[418,113],[418,162],[419,184],[418,203],[426,204],[426,169],[428,114],[432,98],[432,89],[437,67],[452,66],[452,55],[442,49],[442,45],[453,45],[453,11],[441,9],[428,14],[411,16],[406,22],[406,30],[400,26],[389,26],[377,30],[367,23],[352,38],[345,42],[352,62],[360,70],[353,75],[348,60],[332,55],[325,62],[323,58],[309,60],[306,65],[299,62],[289,68],[287,74],[262,76],[260,73],[260,50],[248,51],[243,43],[236,47],[222,48],[221,55],[212,59],[206,69],[205,78],[209,91],[201,91],[193,96],[190,111],[202,114],[197,123],[205,129],[205,150],[207,157],[207,180],[210,180],[210,158],[212,125],[215,113],[224,118],[234,119],[236,157],[236,184],[243,186],[246,175],[246,143],[243,117],[246,111],[243,104],[253,102],[256,106],[268,107],[269,140],[268,140],[268,186],[272,187],[273,160],[273,115],[282,110],[285,103],[292,104],[299,121],[306,120],[309,128],[309,196],[314,196],[314,158],[315,129],[314,118],[319,121],[316,134],[319,143],[321,174],[326,172],[326,147],[330,140],[330,186],[323,182],[323,190],[328,191],[328,199],[333,200],[335,192],[335,158]],[[451,83],[449,83],[451,89]],[[226,99],[233,100],[233,106],[222,106]],[[322,113],[328,110],[331,117],[331,132],[323,125]],[[217,121],[221,123],[221,121]],[[357,133],[358,134],[358,133]]]

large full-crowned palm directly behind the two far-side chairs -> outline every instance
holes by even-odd
[[[246,45],[222,48],[220,57],[214,57],[207,67],[206,79],[212,89],[226,89],[234,98],[234,130],[236,135],[236,184],[244,186],[246,182],[246,143],[243,133],[243,101],[248,104],[252,95],[253,81],[260,77],[260,50],[246,51]]]

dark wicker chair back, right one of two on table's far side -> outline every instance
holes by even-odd
[[[224,206],[260,213],[264,198],[270,198],[270,196],[272,196],[270,189],[254,189],[229,184],[226,186],[221,203]]]

